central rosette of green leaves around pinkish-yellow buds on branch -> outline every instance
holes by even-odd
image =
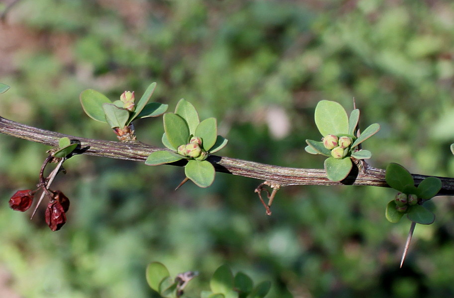
[[[184,166],[186,177],[197,186],[208,187],[214,181],[214,166],[206,160],[227,145],[227,139],[217,135],[215,118],[200,122],[194,106],[181,99],[175,113],[164,114],[164,135],[162,142],[169,150],[151,153],[145,164],[160,165],[187,159]]]

